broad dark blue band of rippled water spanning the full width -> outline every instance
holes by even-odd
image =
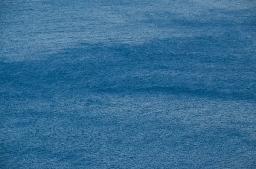
[[[1,91],[15,99],[101,91],[254,100],[253,42],[243,38],[226,32],[139,45],[80,43],[44,60],[1,61]]]

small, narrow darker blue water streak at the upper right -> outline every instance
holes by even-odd
[[[158,11],[157,14],[145,14],[147,19],[144,22],[161,28],[236,30],[237,26],[253,26],[255,24],[254,11],[254,8],[245,10],[206,9],[204,12],[191,14],[189,17],[179,15],[177,12]]]

